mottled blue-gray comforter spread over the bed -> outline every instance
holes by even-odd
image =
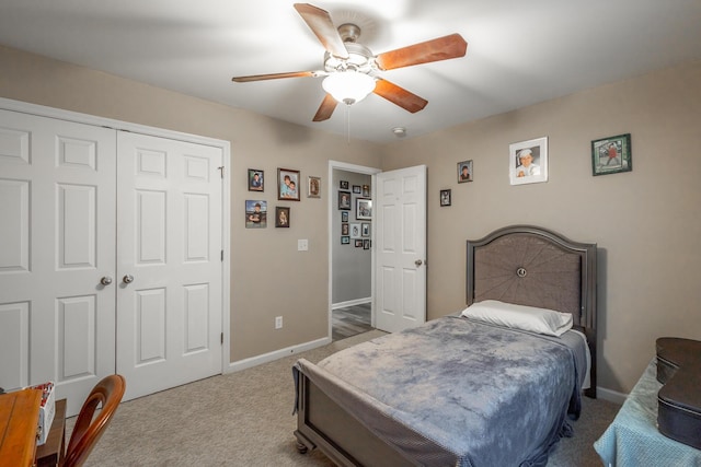
[[[421,465],[540,466],[576,418],[581,336],[448,316],[335,353],[304,373]]]

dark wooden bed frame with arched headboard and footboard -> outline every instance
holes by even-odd
[[[514,225],[467,243],[467,304],[501,300],[572,313],[591,352],[596,397],[596,244],[572,242],[531,225]],[[320,448],[341,466],[417,465],[370,432],[303,373],[297,395],[297,448]]]

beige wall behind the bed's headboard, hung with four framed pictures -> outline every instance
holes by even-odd
[[[621,133],[633,171],[591,176],[591,140]],[[510,186],[509,143],[539,137],[549,182]],[[428,165],[429,318],[464,307],[467,238],[527,223],[596,242],[598,383],[628,393],[657,337],[701,339],[700,148],[701,62],[387,147],[383,170]],[[470,159],[474,182],[458,185]]]

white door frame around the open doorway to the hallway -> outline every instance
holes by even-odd
[[[336,197],[333,196],[334,187],[332,187],[333,171],[346,171],[354,172],[356,174],[370,175],[370,199],[375,202],[375,176],[382,171],[376,167],[368,167],[365,165],[349,164],[347,162],[340,162],[329,160],[329,176],[326,179],[329,183],[326,199],[327,202],[327,219],[329,225],[326,232],[329,232],[329,292],[327,292],[327,314],[329,314],[329,341],[333,340],[333,245],[337,242],[337,238],[333,238],[333,209]],[[370,242],[375,245],[375,229],[370,229]],[[375,248],[370,248],[370,324],[375,327]]]

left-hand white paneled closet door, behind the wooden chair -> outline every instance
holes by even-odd
[[[115,132],[0,110],[0,386],[114,373]],[[107,279],[105,279],[107,282]]]

